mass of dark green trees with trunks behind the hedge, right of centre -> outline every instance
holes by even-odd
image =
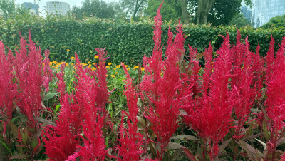
[[[145,14],[152,17],[156,14],[157,8],[161,1],[148,0]],[[161,13],[163,19],[177,20],[182,22],[195,24],[212,24],[212,26],[227,25],[240,13],[242,0],[165,0]],[[251,0],[245,1],[249,6],[252,5]],[[183,12],[183,9],[187,8]],[[199,21],[198,21],[199,19]]]

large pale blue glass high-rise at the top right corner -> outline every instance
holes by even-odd
[[[274,16],[285,14],[285,0],[253,0],[252,22],[254,27],[266,24]]]

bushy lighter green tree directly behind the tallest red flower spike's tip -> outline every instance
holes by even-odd
[[[150,17],[154,17],[157,14],[157,9],[162,1],[148,0],[147,8],[144,10],[145,14]],[[177,20],[182,16],[181,6],[178,1],[165,0],[162,8],[160,9],[161,15],[164,20]]]

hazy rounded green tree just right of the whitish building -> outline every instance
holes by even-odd
[[[81,7],[73,6],[71,13],[76,16],[76,19],[83,19],[84,16],[97,16],[108,19],[115,16],[113,6],[101,0],[85,0]]]

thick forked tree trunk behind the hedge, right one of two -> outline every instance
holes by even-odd
[[[199,0],[197,11],[197,24],[207,24],[209,10],[212,8],[215,0]]]

